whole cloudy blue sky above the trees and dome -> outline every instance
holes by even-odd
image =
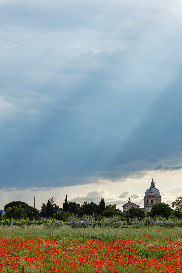
[[[182,195],[182,1],[0,0],[0,208]]]

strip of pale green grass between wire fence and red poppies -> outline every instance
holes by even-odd
[[[160,231],[159,231],[160,230]],[[60,239],[75,240],[79,239],[80,242],[88,241],[89,239],[101,239],[103,242],[108,242],[117,239],[145,239],[145,241],[155,240],[160,237],[163,238],[182,238],[182,228],[86,228],[79,229],[71,227],[46,227],[40,226],[25,226],[25,227],[3,227],[0,226],[0,237],[41,237],[49,240],[58,241]]]

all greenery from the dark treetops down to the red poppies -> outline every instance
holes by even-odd
[[[51,197],[40,213],[10,202],[0,211],[0,271],[181,273],[181,200],[174,210],[160,203],[150,213],[121,212],[104,198],[80,205],[66,196],[60,208]]]

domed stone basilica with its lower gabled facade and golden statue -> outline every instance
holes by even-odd
[[[132,203],[130,201],[130,198],[128,198],[129,201],[123,205],[123,212],[128,211],[131,207],[135,207],[137,209],[142,209],[145,212],[150,212],[152,209],[152,206],[158,203],[161,203],[161,197],[160,197],[160,191],[155,188],[155,183],[154,180],[152,178],[152,182],[150,183],[150,188],[148,188],[145,192],[145,196],[144,196],[144,208],[140,208],[140,206],[138,206],[135,203]]]

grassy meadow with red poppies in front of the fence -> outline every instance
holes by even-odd
[[[182,229],[1,227],[1,272],[182,272]]]

